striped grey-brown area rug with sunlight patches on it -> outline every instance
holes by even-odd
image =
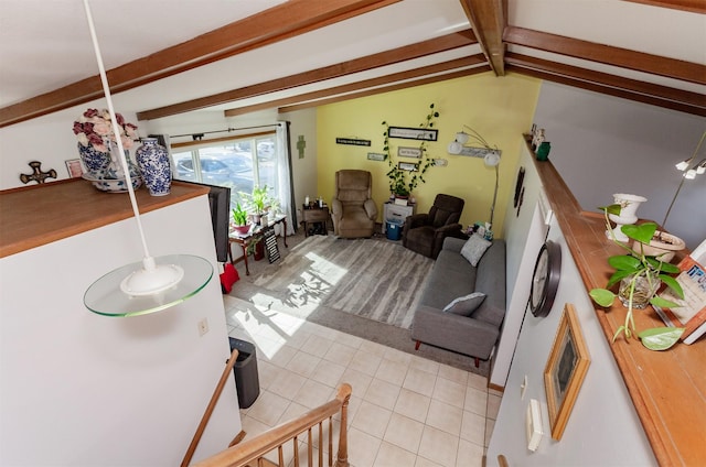
[[[392,241],[312,236],[254,284],[290,303],[320,304],[409,329],[432,265]]]

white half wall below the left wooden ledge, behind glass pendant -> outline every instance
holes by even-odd
[[[216,268],[205,196],[142,220],[152,256],[196,254]],[[168,311],[90,313],[88,285],[141,251],[128,219],[0,260],[0,465],[181,461],[229,356],[220,271]],[[200,337],[202,318],[210,332]],[[239,431],[229,379],[194,459],[224,449]]]

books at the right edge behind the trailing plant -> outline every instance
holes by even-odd
[[[674,296],[671,289],[660,294],[661,297],[678,307],[656,309],[667,326],[683,327],[682,341],[693,344],[706,333],[706,240],[684,258],[678,268],[682,271],[675,279],[684,290],[684,298]]]

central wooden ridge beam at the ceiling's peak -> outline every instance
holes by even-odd
[[[507,0],[459,0],[495,76],[505,74],[503,31],[507,25]]]

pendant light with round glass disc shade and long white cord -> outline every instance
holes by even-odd
[[[84,0],[84,8],[113,132],[120,134],[88,0]],[[116,142],[145,256],[141,262],[127,264],[94,282],[84,295],[84,304],[100,315],[137,316],[169,308],[195,295],[211,281],[213,267],[207,260],[191,254],[150,256],[122,141],[116,138]]]

